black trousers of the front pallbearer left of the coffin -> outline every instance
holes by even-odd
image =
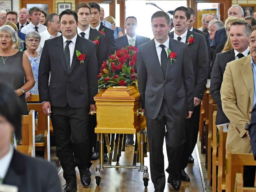
[[[89,151],[89,107],[51,107],[57,155],[63,168],[66,182],[76,182],[75,167],[85,168]]]

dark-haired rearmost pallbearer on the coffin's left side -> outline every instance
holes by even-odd
[[[100,23],[100,6],[96,2],[89,2],[89,6],[91,6],[91,20],[90,25],[93,29],[100,31],[105,34],[107,40],[107,54],[108,56],[113,54],[116,49],[114,31],[104,27],[102,23]]]

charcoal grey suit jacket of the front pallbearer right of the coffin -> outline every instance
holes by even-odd
[[[137,52],[138,88],[145,116],[155,119],[163,99],[176,119],[193,111],[194,74],[188,46],[170,39],[169,49],[176,52],[172,65],[167,61],[166,76],[159,63],[154,39],[139,46]]]

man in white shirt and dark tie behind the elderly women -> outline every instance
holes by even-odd
[[[46,26],[40,23],[41,10],[38,7],[32,7],[29,10],[29,17],[31,22],[20,30],[22,33],[27,34],[30,31],[37,31],[38,33],[42,33],[47,29]]]

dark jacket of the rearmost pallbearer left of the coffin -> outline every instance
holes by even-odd
[[[100,23],[99,31],[102,30],[103,28],[104,28],[104,33],[107,40],[107,45],[108,45],[107,53],[109,56],[115,52],[115,48],[117,45],[115,43],[114,31],[105,27],[102,23]]]

